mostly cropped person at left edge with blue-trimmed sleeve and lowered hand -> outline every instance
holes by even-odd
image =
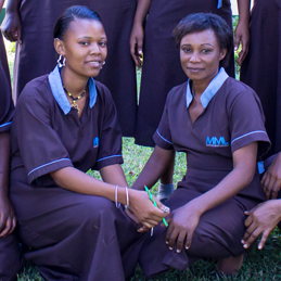
[[[3,1],[0,0],[0,11]],[[0,280],[14,281],[24,265],[15,233],[16,217],[9,200],[10,127],[14,113],[5,48],[0,33]]]

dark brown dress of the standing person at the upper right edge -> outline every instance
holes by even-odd
[[[260,99],[272,142],[270,156],[281,151],[281,1],[255,0],[250,31],[250,51],[240,79]]]

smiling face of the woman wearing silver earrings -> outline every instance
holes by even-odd
[[[63,40],[55,39],[54,44],[66,58],[65,68],[85,77],[98,76],[107,54],[103,25],[95,20],[73,21]]]

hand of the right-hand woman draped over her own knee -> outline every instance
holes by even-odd
[[[188,250],[191,246],[192,237],[201,215],[201,212],[191,202],[171,213],[167,219],[169,226],[166,234],[166,244],[168,244],[169,250],[174,250],[175,244],[177,244],[177,253],[180,253],[186,238],[184,247]]]

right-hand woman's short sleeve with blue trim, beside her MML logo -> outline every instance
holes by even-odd
[[[231,152],[257,141],[258,156],[270,148],[261,104],[251,89],[240,92],[229,105]]]

